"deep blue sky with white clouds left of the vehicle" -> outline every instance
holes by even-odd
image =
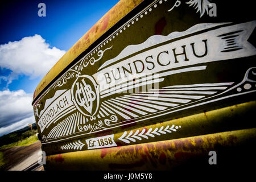
[[[38,4],[46,16],[38,16]],[[0,7],[0,136],[35,122],[43,76],[118,1],[8,1]]]

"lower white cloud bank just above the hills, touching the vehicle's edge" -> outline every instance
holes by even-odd
[[[24,90],[0,91],[0,135],[3,131],[17,130],[26,122],[35,122],[32,102],[32,93]]]

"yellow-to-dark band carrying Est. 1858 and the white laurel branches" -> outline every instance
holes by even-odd
[[[114,134],[113,140],[117,146],[126,146],[130,144],[156,142],[160,140],[185,138],[197,135],[220,133],[223,131],[253,128],[256,127],[256,123],[251,122],[251,118],[254,117],[255,107],[256,101],[251,101],[207,111],[204,113],[189,115],[187,117],[172,119],[170,121],[159,122],[154,125],[146,125],[142,127],[134,125],[130,126],[129,128],[125,128],[125,130],[122,131],[108,131],[107,133],[96,135],[95,137]],[[171,128],[172,130],[170,130]],[[166,129],[168,130],[166,131]],[[151,130],[151,133],[149,135],[145,135],[148,130]],[[144,132],[142,133],[142,131]],[[156,133],[154,133],[154,131],[156,131]],[[130,133],[131,135],[129,137]],[[142,135],[139,134],[144,134],[143,137],[146,136],[147,138],[143,138]],[[95,137],[80,138],[79,141],[85,144],[82,148],[67,147],[67,144],[78,141],[75,139],[57,144],[43,144],[42,150],[46,151],[47,155],[52,155],[59,152],[65,153],[88,150],[88,144],[86,144],[85,140],[94,140]],[[102,150],[102,158],[105,155],[106,150]]]

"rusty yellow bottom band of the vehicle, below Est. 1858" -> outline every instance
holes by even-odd
[[[214,150],[218,154],[218,151],[225,148],[253,142],[255,137],[256,129],[245,129],[130,146],[69,152],[61,154],[62,161],[55,160],[59,159],[59,155],[47,156],[45,168],[51,170],[174,169],[193,160],[200,163],[201,158],[205,159],[207,164],[209,151]]]

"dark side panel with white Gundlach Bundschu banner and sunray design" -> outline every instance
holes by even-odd
[[[168,13],[171,5],[160,0],[141,3],[56,77],[33,104],[43,144],[91,138],[253,98],[253,59],[248,58],[246,65],[240,60],[256,55],[246,40],[256,21],[208,23],[212,19],[207,18],[190,26],[181,24],[187,19]],[[110,17],[90,31],[105,28]],[[236,44],[246,48],[226,47],[225,35],[234,32],[239,33],[234,35]],[[233,74],[227,63],[241,70]],[[216,67],[224,70],[216,71]],[[131,87],[135,93],[130,93]]]

